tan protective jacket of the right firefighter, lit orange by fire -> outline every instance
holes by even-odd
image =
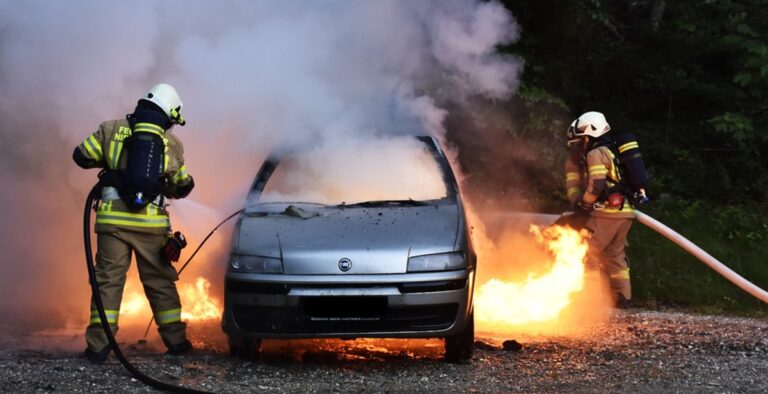
[[[573,158],[565,162],[565,187],[571,204],[583,200],[587,204],[599,202],[606,208],[593,210],[591,216],[606,218],[635,217],[635,211],[628,201],[619,208],[608,208],[607,190],[621,181],[621,174],[616,163],[616,155],[605,145],[589,150],[577,163]]]

